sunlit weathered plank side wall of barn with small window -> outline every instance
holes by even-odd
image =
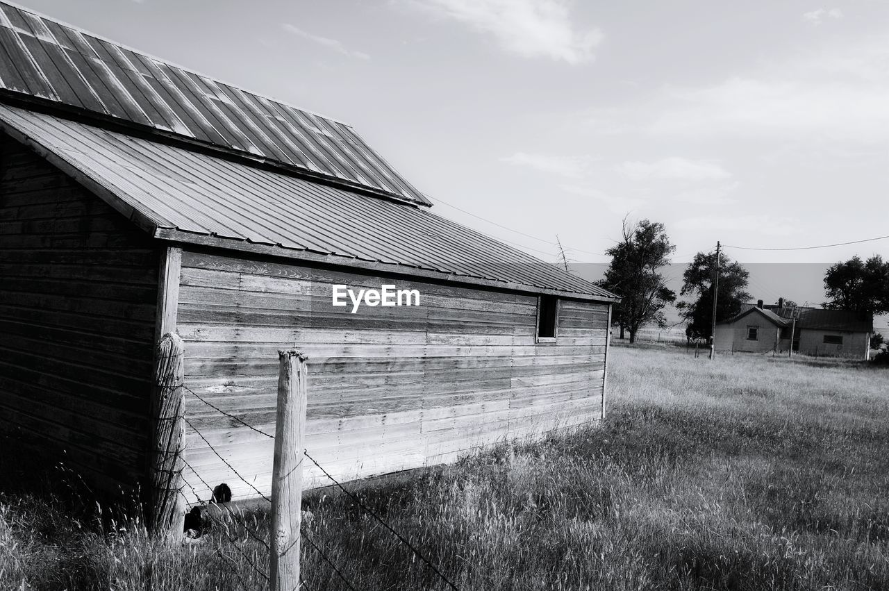
[[[350,314],[350,306],[332,307],[332,284],[418,289],[421,306]],[[277,350],[305,352],[308,451],[332,474],[353,478],[598,419],[607,305],[562,300],[557,342],[548,344],[535,344],[536,308],[535,297],[516,293],[184,252],[178,331],[188,387],[268,433]],[[272,442],[187,396],[189,421],[268,493]],[[211,486],[255,496],[194,431],[187,457]],[[186,479],[209,497],[196,475]],[[306,483],[328,484],[310,466]]]

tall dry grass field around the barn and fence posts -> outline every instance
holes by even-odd
[[[464,590],[889,589],[889,371],[675,347],[609,362],[600,428],[352,486]],[[306,505],[357,589],[449,588],[347,497]],[[262,513],[179,547],[62,507],[0,495],[0,588],[264,588]],[[303,547],[304,588],[348,588]]]

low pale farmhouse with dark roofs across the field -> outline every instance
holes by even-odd
[[[794,327],[794,316],[796,326]],[[794,331],[791,339],[790,331]],[[804,355],[868,359],[873,315],[851,310],[744,304],[741,313],[717,323],[717,351],[765,353],[793,350]]]

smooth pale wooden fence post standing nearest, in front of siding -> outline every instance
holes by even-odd
[[[275,462],[272,472],[272,531],[269,573],[272,591],[300,587],[300,510],[303,435],[306,427],[306,357],[278,351]]]

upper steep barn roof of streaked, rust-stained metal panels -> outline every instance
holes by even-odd
[[[430,204],[346,124],[6,2],[0,2],[3,89]]]

